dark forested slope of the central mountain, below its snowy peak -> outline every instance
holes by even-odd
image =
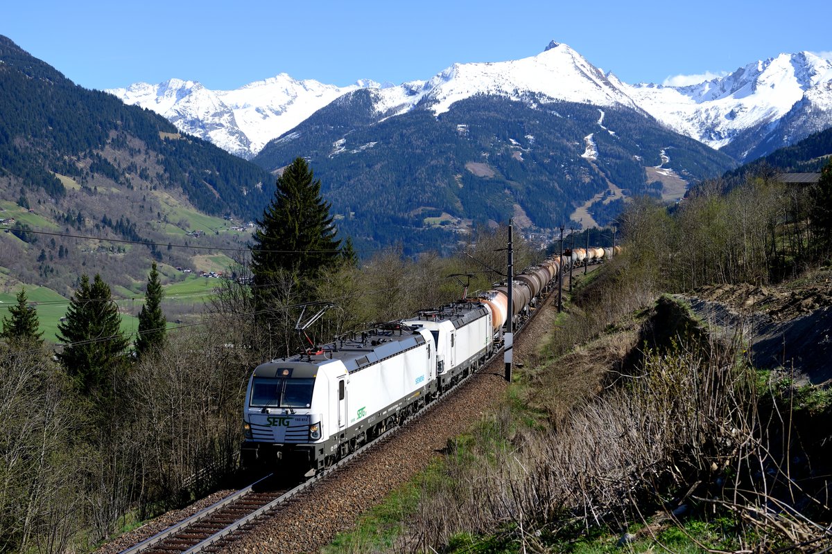
[[[342,96],[254,159],[275,170],[308,157],[339,226],[364,243],[435,248],[472,224],[511,217],[543,233],[579,219],[604,224],[625,198],[661,196],[681,182],[678,198],[686,183],[733,165],[619,105],[473,96],[440,115],[424,101],[384,117],[378,102],[378,91]],[[434,223],[441,217],[448,223]]]

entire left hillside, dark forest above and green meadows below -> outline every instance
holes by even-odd
[[[245,248],[248,233],[232,227],[257,218],[274,192],[254,164],[74,85],[6,37],[0,113],[6,292],[23,282],[66,297],[82,272],[100,272],[128,296],[151,257],[174,278],[173,267],[199,269],[198,254]]]

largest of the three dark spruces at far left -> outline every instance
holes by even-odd
[[[57,326],[57,338],[64,343],[57,358],[85,395],[109,395],[112,376],[126,360],[129,344],[120,327],[121,316],[110,287],[100,275],[92,285],[89,277],[82,275],[67,319]]]

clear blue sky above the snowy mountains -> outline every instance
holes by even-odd
[[[398,84],[456,61],[534,56],[551,40],[630,83],[832,51],[829,0],[12,0],[0,12],[0,34],[97,89],[177,77],[227,90],[281,72]]]

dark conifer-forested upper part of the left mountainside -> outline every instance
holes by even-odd
[[[179,188],[206,213],[248,217],[269,198],[258,187],[266,175],[255,166],[182,137],[150,110],[74,85],[6,37],[0,61],[0,161],[3,176],[24,189],[60,198],[66,189],[54,173],[80,181],[98,174],[116,186]]]

